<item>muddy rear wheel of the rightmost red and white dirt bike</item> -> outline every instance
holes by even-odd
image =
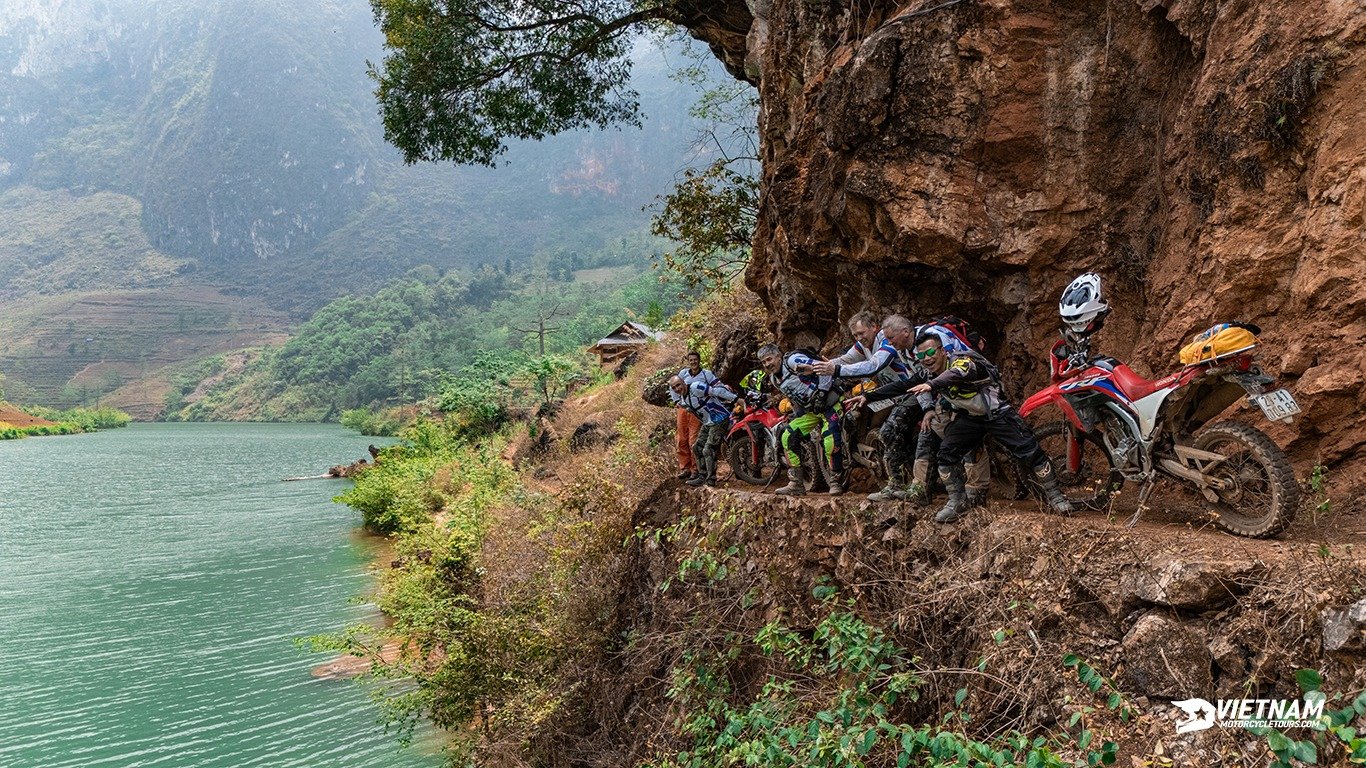
[[[1255,426],[1221,421],[1195,436],[1195,448],[1227,456],[1210,473],[1232,481],[1218,491],[1214,525],[1236,536],[1269,538],[1295,522],[1299,484],[1285,452]]]

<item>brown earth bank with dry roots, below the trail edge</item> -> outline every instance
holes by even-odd
[[[1089,727],[1120,745],[1121,765],[1265,764],[1242,731],[1176,734],[1186,716],[1172,701],[1295,698],[1302,668],[1330,691],[1366,687],[1366,552],[1351,544],[1366,521],[1321,522],[1257,541],[1172,514],[1130,529],[1001,503],[945,526],[908,504],[667,481],[635,525],[669,533],[642,537],[628,558],[616,630],[631,642],[587,691],[602,731],[579,746],[623,765],[645,757],[642,745],[686,749],[665,693],[671,666],[775,618],[810,631],[824,585],[919,659],[923,687],[897,713],[906,722],[940,722],[966,689],[979,734],[1056,730],[1090,707]],[[680,568],[709,556],[728,575]],[[1064,667],[1070,653],[1109,679],[1100,700]],[[747,696],[770,666],[742,644],[725,674]],[[1111,690],[1135,717],[1106,715]]]

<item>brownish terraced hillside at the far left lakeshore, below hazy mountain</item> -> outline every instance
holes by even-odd
[[[204,286],[30,297],[0,307],[0,370],[18,402],[94,402],[154,418],[176,364],[283,344],[288,318]]]

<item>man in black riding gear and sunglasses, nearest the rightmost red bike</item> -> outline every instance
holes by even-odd
[[[934,515],[934,522],[953,522],[968,510],[963,459],[988,435],[1016,461],[1031,467],[1034,481],[1044,489],[1055,512],[1071,514],[1072,506],[1057,486],[1052,462],[1040,448],[1034,432],[1005,402],[994,365],[973,350],[947,353],[944,340],[933,332],[915,338],[915,361],[934,377],[911,387],[911,394],[934,395],[953,411],[938,450],[938,476],[948,491],[948,502]]]

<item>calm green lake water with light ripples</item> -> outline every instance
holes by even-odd
[[[0,768],[419,768],[294,638],[373,618],[331,425],[0,441]]]

